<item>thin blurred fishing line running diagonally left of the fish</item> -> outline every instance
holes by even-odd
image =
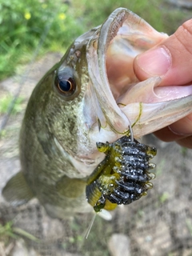
[[[26,82],[26,79],[28,78],[28,76],[30,74],[30,70],[31,70],[32,66],[34,65],[34,61],[37,58],[38,53],[41,50],[42,45],[43,45],[43,43],[46,40],[47,34],[48,34],[49,30],[50,30],[50,26],[54,22],[54,18],[55,18],[55,16],[57,14],[58,14],[58,10],[55,12],[55,14],[54,14],[54,16],[52,18],[49,18],[49,23],[46,25],[45,30],[43,31],[42,36],[39,39],[38,46],[34,50],[34,54],[32,55],[32,59],[31,59],[30,64],[29,64],[29,68],[22,75],[22,78],[21,78],[21,80],[19,82],[18,90],[14,94],[14,99],[12,100],[12,102],[10,102],[10,105],[7,108],[6,115],[2,118],[2,123],[1,123],[1,126],[0,126],[0,138],[2,136],[2,130],[4,130],[5,127],[6,127],[6,124],[7,124],[8,120],[9,120],[9,118],[10,118],[10,114],[11,114],[12,110],[14,109],[15,102],[17,101],[18,96],[19,96],[19,94],[22,91],[22,87],[23,87],[24,83]]]

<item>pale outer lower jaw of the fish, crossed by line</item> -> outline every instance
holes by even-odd
[[[158,103],[130,103],[122,108],[129,117],[135,137],[153,133],[192,112],[192,95]]]

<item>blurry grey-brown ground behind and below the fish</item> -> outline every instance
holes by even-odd
[[[18,134],[27,100],[42,74],[60,57],[60,54],[47,54],[30,67],[30,73],[22,82],[22,110],[10,116],[0,141],[0,192],[6,181],[20,169]],[[0,97],[15,94],[22,79],[9,78],[1,82]],[[3,115],[0,122],[2,119]],[[120,254],[115,251],[121,242],[118,245],[116,242],[124,235],[127,255],[191,256],[192,151],[175,143],[161,142],[153,135],[146,136],[144,142],[158,149],[153,161],[157,164],[154,188],[138,202],[118,207],[112,221],[97,217],[87,239],[83,235],[92,214],[79,214],[71,220],[61,221],[47,216],[37,199],[14,208],[0,195],[0,255],[117,256]],[[10,238],[9,232],[3,233],[1,227],[10,221],[13,222],[11,234],[18,234],[17,229],[25,230],[38,238],[38,242],[21,232],[17,238]]]

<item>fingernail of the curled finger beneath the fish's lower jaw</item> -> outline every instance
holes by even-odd
[[[176,135],[191,135],[192,134],[192,120],[188,117],[182,118],[178,122],[169,126],[169,129]]]

